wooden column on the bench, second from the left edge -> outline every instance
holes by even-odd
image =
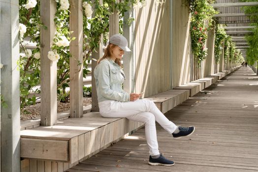
[[[55,0],[40,0],[40,18],[47,29],[40,28],[40,65],[41,65],[41,116],[40,125],[52,126],[57,123],[57,61],[48,59],[51,51],[56,25]]]

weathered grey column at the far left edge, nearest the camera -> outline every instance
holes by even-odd
[[[1,95],[8,106],[1,108],[1,172],[20,172],[19,0],[0,5]]]

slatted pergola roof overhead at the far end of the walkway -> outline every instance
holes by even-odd
[[[245,54],[247,41],[246,35],[252,34],[252,30],[255,27],[249,26],[255,21],[251,21],[248,16],[242,10],[243,6],[258,5],[258,2],[239,2],[239,0],[217,0],[217,3],[211,4],[214,8],[220,11],[220,14],[216,14],[218,22],[220,24],[226,24],[226,33],[232,36],[233,42],[236,43],[236,48]]]

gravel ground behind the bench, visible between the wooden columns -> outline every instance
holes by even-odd
[[[89,106],[91,104],[92,104],[91,97],[83,98],[83,106]],[[69,103],[57,102],[57,112],[58,113],[67,111],[67,110],[69,110],[69,108],[70,108]],[[31,105],[31,106],[26,106],[21,111],[21,120],[33,119],[36,117],[40,117],[40,103]]]

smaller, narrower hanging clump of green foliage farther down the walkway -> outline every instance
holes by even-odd
[[[223,46],[222,43],[226,38],[226,31],[223,28],[224,25],[216,25],[215,27],[215,47],[214,47],[214,51],[215,51],[215,59],[216,62],[219,63],[220,62],[220,56],[222,54],[223,51]]]

